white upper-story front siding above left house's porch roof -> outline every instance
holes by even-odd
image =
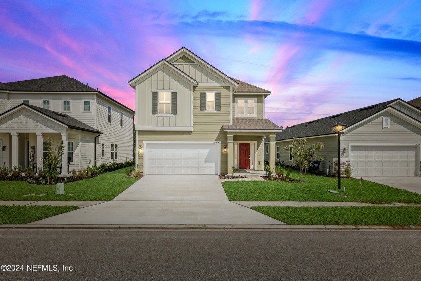
[[[29,100],[30,105],[43,108],[43,100],[49,100],[50,110],[69,115],[95,128],[95,95],[95,93],[13,93],[9,94],[9,107],[7,109],[18,106],[23,100]],[[64,100],[70,100],[70,111],[63,111]],[[91,111],[83,111],[84,100],[91,101]]]

